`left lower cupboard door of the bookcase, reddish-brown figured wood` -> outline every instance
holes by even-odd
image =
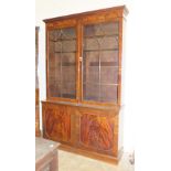
[[[71,140],[71,114],[67,106],[43,105],[43,136],[68,142]]]

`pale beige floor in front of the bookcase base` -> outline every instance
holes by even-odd
[[[129,153],[124,153],[118,165],[58,150],[58,171],[133,171]]]

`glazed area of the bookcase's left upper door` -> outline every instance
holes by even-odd
[[[74,28],[49,32],[49,95],[76,98],[76,31]]]

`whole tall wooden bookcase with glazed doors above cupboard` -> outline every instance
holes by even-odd
[[[118,163],[122,151],[125,6],[44,20],[43,137]]]

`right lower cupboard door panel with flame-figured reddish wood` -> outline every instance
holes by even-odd
[[[114,120],[84,113],[81,116],[81,146],[103,153],[113,153]]]

